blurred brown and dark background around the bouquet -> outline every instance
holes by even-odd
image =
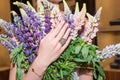
[[[36,8],[36,0],[0,0],[0,18],[6,21],[12,21],[10,14],[11,10],[18,10],[16,6],[12,5],[14,1],[26,2],[30,1]],[[96,10],[102,6],[102,15],[100,20],[99,32],[94,39],[94,44],[99,46],[102,50],[105,46],[110,44],[116,44],[120,42],[120,0],[66,0],[70,8],[74,11],[75,2],[79,2],[80,9],[83,3],[87,4],[87,11],[94,15]],[[61,9],[63,9],[62,3],[60,3]],[[117,24],[116,24],[116,19]],[[112,24],[111,24],[112,22]],[[0,28],[0,34],[5,33]],[[106,73],[107,80],[120,80],[120,69],[113,69],[110,64],[114,62],[116,57],[107,59],[102,62],[101,65]],[[119,63],[120,64],[120,63]],[[0,44],[0,80],[8,80],[10,69],[9,53],[6,48]]]

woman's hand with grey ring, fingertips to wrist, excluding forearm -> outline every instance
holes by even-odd
[[[40,60],[45,62],[47,66],[61,55],[71,40],[71,38],[68,37],[71,29],[68,28],[67,23],[61,21],[56,26],[55,29],[51,30],[41,40],[39,47],[38,57],[40,57]],[[61,42],[61,40],[63,41]]]

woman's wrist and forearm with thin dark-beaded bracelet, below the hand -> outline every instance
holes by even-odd
[[[42,80],[47,65],[37,56],[23,80]]]

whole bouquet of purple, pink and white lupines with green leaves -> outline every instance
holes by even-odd
[[[92,16],[86,12],[85,4],[79,11],[78,3],[73,14],[65,0],[63,0],[63,13],[47,0],[39,3],[38,12],[29,2],[13,4],[20,8],[21,16],[11,11],[13,23],[0,19],[1,27],[9,35],[0,34],[0,43],[9,49],[11,62],[17,64],[17,80],[22,80],[23,74],[28,71],[36,58],[41,39],[55,28],[61,19],[69,23],[68,28],[72,29],[69,36],[72,37],[72,41],[63,54],[48,67],[43,80],[73,80],[72,73],[79,68],[92,68],[96,80],[102,80],[105,77],[99,62],[110,55],[113,56],[106,50],[110,49],[111,52],[115,50],[107,47],[103,51],[98,51],[98,47],[92,44],[92,39],[98,31],[102,8]],[[114,53],[117,54],[120,48],[117,46],[115,49]]]

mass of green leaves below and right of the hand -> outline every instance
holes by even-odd
[[[99,65],[102,60],[96,58],[98,55],[96,49],[97,46],[87,44],[79,37],[76,38],[71,41],[60,58],[48,67],[43,80],[73,80],[72,73],[75,69],[87,69],[90,65],[94,71],[94,78],[102,80],[105,74]]]

